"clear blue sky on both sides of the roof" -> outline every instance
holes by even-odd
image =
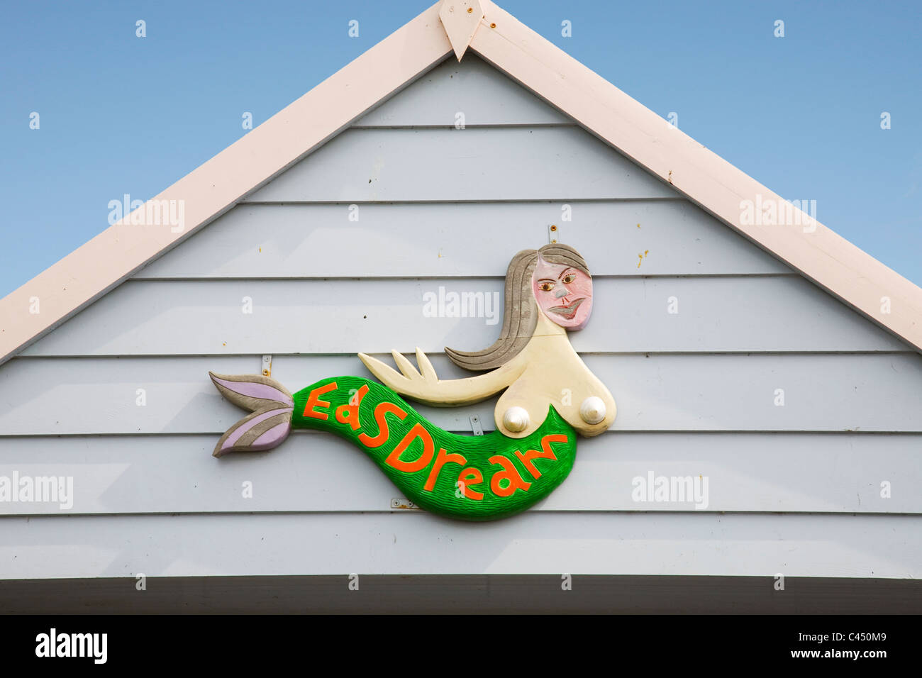
[[[0,296],[105,230],[110,200],[157,195],[245,134],[242,112],[264,122],[430,4],[7,4]],[[779,195],[816,200],[822,223],[922,284],[915,0],[499,4]]]

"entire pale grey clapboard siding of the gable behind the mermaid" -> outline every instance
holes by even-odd
[[[396,488],[331,435],[211,457],[243,412],[209,370],[271,353],[298,390],[420,346],[467,376],[443,347],[499,324],[425,317],[423,294],[502,291],[550,224],[594,273],[573,346],[618,418],[540,506],[390,510]],[[472,414],[492,430],[494,404],[419,410],[463,433]],[[922,356],[468,54],[0,366],[0,475],[75,491],[67,511],[0,505],[0,577],[920,577],[920,443]],[[634,502],[651,471],[706,476],[707,508]]]

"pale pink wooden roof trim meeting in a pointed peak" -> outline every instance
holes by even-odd
[[[0,300],[0,363],[121,284],[337,135],[445,56],[471,49],[716,219],[922,351],[922,290],[786,201],[490,0],[443,0],[160,195]],[[180,228],[144,215],[181,200]],[[175,204],[175,203],[172,203]],[[140,218],[139,218],[140,215]],[[40,313],[30,312],[40,300]]]

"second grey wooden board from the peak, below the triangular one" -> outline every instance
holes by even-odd
[[[348,129],[243,202],[676,196],[580,127],[538,126]]]

